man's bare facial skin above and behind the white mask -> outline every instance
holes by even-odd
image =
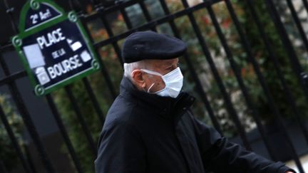
[[[148,70],[153,70],[160,73],[161,75],[170,73],[170,71],[175,70],[175,68],[178,68],[178,58],[168,60],[147,60],[145,61],[145,63],[145,66]],[[140,88],[143,88],[143,90],[148,91],[148,88],[150,88],[149,93],[155,93],[156,91],[163,90],[163,88],[165,88],[165,83],[163,82],[161,76],[151,75],[143,71],[140,71],[140,75],[142,75],[144,82],[142,83],[142,85],[140,85]],[[151,87],[151,85],[153,86]]]

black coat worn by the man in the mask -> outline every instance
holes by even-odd
[[[101,132],[96,173],[277,172],[288,170],[227,141],[193,117],[195,98],[164,98],[120,85]]]

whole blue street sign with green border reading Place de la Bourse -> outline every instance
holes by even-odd
[[[12,43],[36,95],[46,95],[100,68],[76,13],[66,13],[53,1],[28,1],[19,31]]]

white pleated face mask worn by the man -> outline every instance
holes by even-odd
[[[159,75],[163,79],[165,83],[165,88],[163,90],[158,90],[155,94],[163,96],[163,97],[171,97],[176,98],[180,94],[180,90],[183,87],[183,75],[180,71],[180,68],[175,68],[174,70],[170,71],[165,75],[161,75],[158,72],[146,69],[140,69],[145,73],[149,73],[151,75]],[[150,85],[150,88],[153,87],[155,83]],[[150,92],[150,88],[148,88],[148,93]]]

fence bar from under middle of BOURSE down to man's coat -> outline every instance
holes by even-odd
[[[78,117],[79,122],[81,123],[81,127],[83,129],[83,132],[86,135],[86,139],[88,140],[88,145],[90,147],[91,152],[93,153],[93,157],[96,157],[96,145],[94,144],[91,132],[88,129],[88,126],[86,125],[86,120],[84,120],[83,115],[81,114],[81,110],[78,108],[78,103],[76,101],[76,98],[73,96],[73,93],[69,85],[65,86],[64,88],[66,90],[69,100],[71,101],[73,110],[76,113],[76,116]]]

